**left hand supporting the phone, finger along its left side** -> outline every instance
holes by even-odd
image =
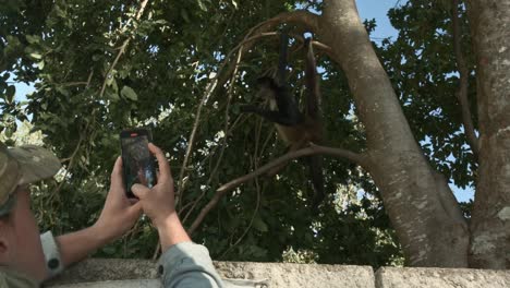
[[[99,219],[94,225],[99,237],[106,242],[124,235],[142,215],[142,204],[125,195],[122,182],[122,158],[118,157],[111,172],[110,191]]]

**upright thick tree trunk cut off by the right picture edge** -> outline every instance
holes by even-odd
[[[510,0],[467,3],[481,148],[470,265],[510,268]]]

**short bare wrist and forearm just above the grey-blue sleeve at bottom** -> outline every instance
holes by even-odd
[[[157,227],[159,233],[159,240],[161,241],[161,251],[166,251],[171,245],[190,242],[190,236],[186,230],[182,227],[181,220],[177,213],[172,213]]]

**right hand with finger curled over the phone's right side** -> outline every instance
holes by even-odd
[[[148,148],[158,159],[158,183],[153,189],[142,184],[134,184],[131,191],[139,199],[142,207],[153,220],[153,225],[160,229],[168,218],[175,216],[173,178],[170,165],[162,151],[153,143],[148,144]]]

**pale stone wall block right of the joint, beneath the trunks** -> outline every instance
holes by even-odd
[[[510,271],[396,268],[376,273],[377,288],[509,288]]]

